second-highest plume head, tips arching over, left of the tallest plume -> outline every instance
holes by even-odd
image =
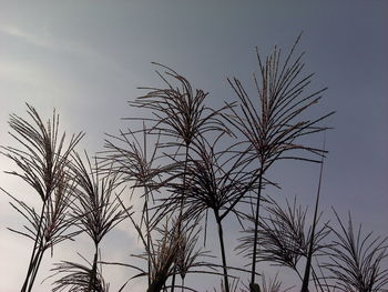
[[[186,78],[171,68],[155,64],[166,70],[164,74],[156,71],[166,88],[141,88],[149,92],[130,104],[151,110],[153,118],[141,120],[153,124],[151,132],[167,138],[165,145],[190,145],[206,132],[226,130],[218,119],[221,110],[215,111],[204,103],[208,93],[201,89],[194,90]]]

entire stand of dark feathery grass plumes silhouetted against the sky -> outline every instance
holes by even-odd
[[[12,115],[12,135],[24,150],[4,149],[21,169],[11,174],[21,177],[42,200],[39,214],[11,197],[12,207],[30,223],[27,231],[12,231],[34,242],[22,291],[31,291],[43,252],[81,232],[93,242],[94,258],[84,259],[88,265],[58,263],[52,269],[54,291],[108,291],[103,264],[135,271],[120,291],[142,276],[149,292],[195,291],[185,284],[192,273],[221,276],[225,292],[286,291],[278,278],[266,280],[261,262],[295,271],[302,292],[313,284],[317,291],[380,291],[388,282],[388,271],[380,268],[387,258],[386,240],[363,238],[360,231],[355,238],[351,222],[345,229],[338,219],[339,231],[321,222],[321,168],[312,219],[296,200],[283,205],[263,194],[264,189],[278,189],[267,175],[275,162],[289,159],[323,165],[327,153],[325,147],[303,142],[326,131],[321,121],[333,112],[306,118],[326,89],[308,91],[313,74],[303,71],[303,53],[295,57],[298,40],[285,58],[275,48],[263,61],[257,51],[254,97],[238,79],[229,79],[237,101],[219,109],[206,105],[208,93],[156,64],[164,71],[157,71],[164,87],[142,88],[147,92],[130,102],[146,118],[127,118],[131,129],[108,135],[104,151],[92,160],[74,151],[82,134],[73,135],[68,148],[64,134],[58,140],[55,114],[48,125],[30,105],[31,124]],[[139,211],[127,203],[134,197]],[[216,224],[219,264],[201,245],[206,244],[210,215]],[[99,256],[103,238],[125,219],[144,249],[133,254],[142,260],[140,264]],[[226,219],[242,225],[237,253],[246,259],[244,266],[228,264]],[[337,240],[330,242],[333,236]],[[242,283],[242,274],[251,280]]]

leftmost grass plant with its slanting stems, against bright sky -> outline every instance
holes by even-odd
[[[73,178],[69,171],[70,153],[81,140],[82,133],[72,135],[65,145],[65,134],[59,135],[59,117],[53,112],[52,120],[45,124],[37,110],[27,104],[29,122],[17,114],[11,114],[10,134],[22,149],[6,147],[4,154],[16,162],[20,171],[8,172],[31,185],[41,199],[41,210],[27,205],[22,200],[13,199],[11,205],[22,214],[30,226],[25,231],[14,231],[32,239],[34,244],[21,291],[31,291],[44,252],[67,239],[72,239],[79,231],[70,231],[74,219],[69,217],[72,207],[71,193]]]

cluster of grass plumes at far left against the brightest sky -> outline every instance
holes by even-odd
[[[29,122],[11,115],[11,135],[23,149],[7,147],[4,154],[13,160],[20,171],[9,172],[25,181],[39,194],[40,212],[8,193],[11,205],[28,221],[24,230],[10,229],[33,241],[28,272],[21,291],[31,291],[43,254],[48,249],[85,232],[93,241],[95,255],[91,268],[63,261],[53,271],[64,274],[54,282],[54,291],[108,291],[98,271],[99,243],[106,233],[126,218],[131,207],[122,208],[116,192],[118,177],[104,173],[100,177],[98,163],[92,164],[85,154],[88,167],[75,152],[83,134],[72,135],[65,144],[65,133],[59,133],[59,117],[45,124],[37,110],[28,104]],[[38,209],[39,210],[39,209]],[[85,284],[88,283],[88,284]]]

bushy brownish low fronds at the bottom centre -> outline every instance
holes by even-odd
[[[210,256],[208,253],[196,249],[200,233],[198,222],[191,224],[188,224],[188,222],[181,222],[180,224],[180,222],[177,222],[180,219],[172,219],[169,217],[165,219],[165,223],[153,230],[154,234],[150,241],[151,246],[147,248],[147,242],[139,224],[136,224],[132,218],[131,220],[146,248],[144,253],[134,254],[133,256],[146,261],[149,263],[149,270],[126,263],[108,263],[127,266],[137,271],[139,273],[130,278],[129,281],[140,276],[149,276],[149,292],[164,291],[163,289],[172,288],[172,285],[167,285],[166,283],[169,278],[174,273],[180,273],[182,276],[182,285],[175,286],[175,283],[173,283],[174,288],[188,289],[192,291],[192,289],[184,284],[185,276],[188,273],[217,274],[212,271],[215,269],[211,266],[210,263],[201,260],[204,256]],[[208,269],[211,271],[208,271]]]

